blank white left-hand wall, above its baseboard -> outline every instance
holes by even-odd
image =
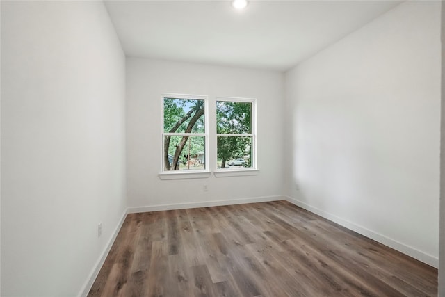
[[[101,1],[1,1],[1,296],[78,295],[120,223],[124,67]]]

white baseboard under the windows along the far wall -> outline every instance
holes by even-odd
[[[178,204],[159,204],[145,207],[129,207],[127,213],[134,214],[138,212],[149,212],[149,211],[163,211],[163,210],[173,210],[173,209],[190,209],[196,207],[218,207],[223,205],[234,205],[234,204],[246,204],[246,203],[257,203],[257,202],[269,202],[285,200],[284,196],[264,196],[256,198],[241,198],[232,200],[217,200],[217,201],[204,201],[204,202],[186,202]]]

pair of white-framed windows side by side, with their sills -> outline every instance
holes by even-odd
[[[257,175],[255,99],[217,98],[210,118],[207,96],[164,94],[162,100],[159,178],[209,177],[209,158],[216,177]],[[210,136],[209,122],[216,127]]]

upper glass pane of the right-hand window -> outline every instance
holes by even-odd
[[[217,101],[216,133],[251,134],[252,103]]]

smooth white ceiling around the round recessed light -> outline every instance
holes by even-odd
[[[285,71],[402,1],[105,1],[127,56]]]

